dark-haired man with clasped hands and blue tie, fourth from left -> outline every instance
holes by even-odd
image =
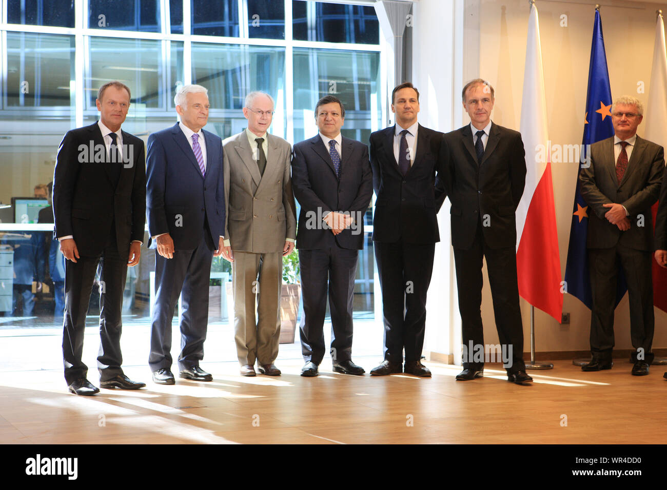
[[[373,181],[368,147],[341,135],[344,119],[343,103],[333,95],[322,97],[315,105],[319,134],[293,148],[292,185],[301,205],[296,237],[303,291],[301,376],[317,376],[324,357],[327,289],[333,371],[366,372],[352,362],[352,303]]]

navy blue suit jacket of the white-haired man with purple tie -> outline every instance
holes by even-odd
[[[201,175],[178,123],[148,138],[146,213],[149,236],[169,233],[175,250],[194,250],[201,242],[204,219],[217,248],[225,234],[225,187],[222,140],[202,130],[206,173]],[[151,248],[157,248],[149,240]]]

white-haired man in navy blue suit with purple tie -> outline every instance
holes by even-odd
[[[199,367],[208,325],[211,261],[222,253],[225,229],[222,140],[201,129],[208,121],[207,89],[184,85],[174,97],[181,122],[148,138],[147,217],[155,254],[157,293],[148,363],[153,382],[173,385],[171,320],[179,296],[179,375],[213,377]]]

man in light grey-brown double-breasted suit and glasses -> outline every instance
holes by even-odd
[[[222,255],[232,263],[236,351],[243,376],[256,375],[255,361],[259,373],[280,375],[273,361],[280,337],[283,256],[293,251],[296,237],[291,147],[267,133],[273,107],[267,93],[246,95],[248,127],[223,142],[229,211]]]

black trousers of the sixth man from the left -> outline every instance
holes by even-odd
[[[459,311],[461,313],[462,341],[472,356],[476,345],[484,346],[482,327],[482,259],[486,257],[494,316],[501,347],[509,353],[512,346],[511,365],[508,373],[525,371],[524,329],[519,308],[519,287],[516,275],[516,250],[514,247],[492,249],[484,239],[482,222],[478,221],[477,232],[470,249],[454,248],[456,283],[458,287]],[[470,349],[472,341],[473,349]],[[465,352],[465,351],[464,351]],[[463,359],[464,369],[482,369],[484,363]]]

